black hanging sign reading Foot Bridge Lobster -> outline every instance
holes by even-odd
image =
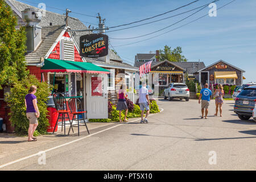
[[[80,56],[104,57],[109,53],[109,37],[104,34],[88,34],[80,37]]]

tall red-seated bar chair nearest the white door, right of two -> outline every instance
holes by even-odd
[[[84,118],[84,113],[86,113],[86,111],[82,111],[82,104],[81,104],[81,101],[78,99],[78,98],[71,98],[69,101],[68,101],[68,106],[69,106],[69,109],[71,110],[71,114],[73,114],[73,118],[72,118],[72,122],[71,122],[71,125],[73,123],[73,120],[74,120],[74,117],[77,116],[77,118],[75,120],[77,120],[77,125],[78,125],[78,134],[79,134],[79,115],[82,116],[82,119],[84,120],[84,124],[86,126],[86,129],[88,131],[88,134],[89,133],[89,130],[88,130],[88,127],[86,125],[86,122],[85,122],[85,118]],[[78,111],[78,110],[81,110],[81,111]],[[70,131],[70,129],[69,129]],[[69,131],[68,131],[68,135],[69,135]]]

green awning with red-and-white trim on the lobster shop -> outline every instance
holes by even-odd
[[[43,72],[109,74],[109,71],[107,69],[98,67],[97,65],[94,65],[92,63],[65,61],[57,59],[45,59],[44,66],[41,68],[41,73]]]

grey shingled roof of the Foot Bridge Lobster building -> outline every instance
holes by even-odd
[[[16,11],[21,14],[21,11],[27,8],[32,9],[38,9],[38,7],[27,5],[26,3],[22,3],[15,0],[6,0],[13,5]],[[49,24],[52,23],[52,26],[49,26]],[[29,53],[26,56],[27,63],[40,63],[40,57],[46,56],[43,55],[43,53],[47,53],[49,51],[49,48],[55,43],[56,39],[60,35],[61,31],[65,28],[65,15],[53,13],[51,11],[46,11],[46,16],[42,16],[42,20],[39,23],[39,26],[42,27],[42,43],[39,46],[36,51]],[[72,30],[88,30],[88,27],[84,25],[79,19],[72,18],[69,16],[68,18],[68,26],[71,27]],[[58,28],[59,27],[59,28]],[[61,30],[62,29],[62,30]],[[59,35],[57,35],[59,33]],[[73,36],[75,38],[75,41],[80,47],[80,36],[88,34],[87,31],[85,32],[75,32],[75,35]],[[46,37],[44,37],[46,36]],[[54,40],[54,38],[56,38]],[[46,49],[48,50],[46,51]],[[28,57],[29,56],[29,57]],[[116,55],[111,49],[109,49],[109,57],[110,60],[117,60],[122,61],[121,57]]]

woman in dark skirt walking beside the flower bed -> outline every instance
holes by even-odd
[[[123,119],[124,122],[127,122],[128,120],[126,119],[127,113],[128,113],[128,107],[126,104],[126,86],[125,85],[121,85],[120,89],[118,90],[118,94],[117,94],[117,99],[118,99],[118,103],[117,103],[117,110],[119,110],[119,122],[121,121],[121,112],[122,110],[125,110],[125,119]]]

